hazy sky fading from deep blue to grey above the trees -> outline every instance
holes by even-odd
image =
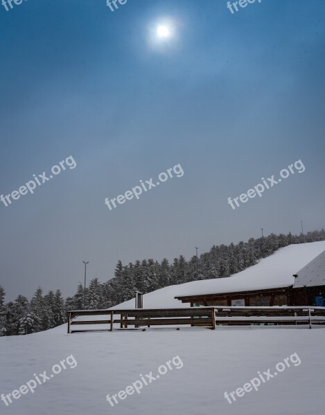
[[[213,244],[325,225],[324,0],[28,0],[0,6],[0,194],[77,167],[7,208],[7,300],[118,259],[189,259]],[[168,44],[151,29],[175,25]],[[232,210],[227,199],[301,159],[302,174]],[[173,178],[109,211],[104,199],[177,163]]]

